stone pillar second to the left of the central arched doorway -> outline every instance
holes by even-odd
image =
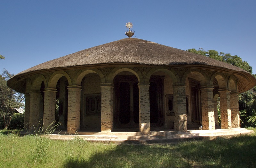
[[[75,134],[80,129],[81,86],[68,86],[68,133]]]

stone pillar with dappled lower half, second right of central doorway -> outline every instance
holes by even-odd
[[[173,85],[174,129],[187,132],[186,86],[183,83]]]

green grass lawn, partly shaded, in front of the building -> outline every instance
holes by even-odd
[[[116,145],[79,137],[68,141],[20,137],[0,130],[0,156],[1,168],[249,168],[256,167],[256,133],[178,144]]]

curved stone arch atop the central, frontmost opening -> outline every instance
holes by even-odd
[[[114,68],[110,73],[109,73],[109,78],[108,78],[108,82],[112,83],[115,76],[117,74],[119,74],[120,72],[124,72],[124,71],[128,71],[131,72],[132,74],[134,74],[139,82],[143,82],[143,75],[140,73],[140,71],[137,68]]]

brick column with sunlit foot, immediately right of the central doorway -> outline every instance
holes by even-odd
[[[141,135],[150,135],[150,83],[138,83],[139,86],[139,121]]]

